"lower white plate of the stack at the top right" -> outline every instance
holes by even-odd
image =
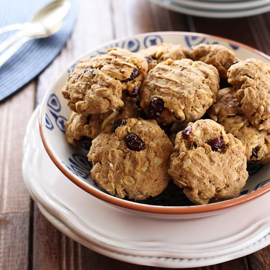
[[[199,10],[187,7],[179,3],[173,2],[171,0],[151,0],[151,1],[162,7],[165,7],[167,9],[176,12],[209,18],[240,18],[240,17],[254,16],[270,11],[270,4],[258,8],[250,8],[238,11],[217,11],[217,10],[213,11],[213,10]]]

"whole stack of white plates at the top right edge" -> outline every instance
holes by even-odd
[[[235,18],[270,11],[270,0],[151,0],[165,8],[200,17]]]

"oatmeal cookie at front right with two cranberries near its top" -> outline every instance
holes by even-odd
[[[240,140],[210,119],[197,120],[176,135],[168,173],[195,204],[239,196],[248,173]]]

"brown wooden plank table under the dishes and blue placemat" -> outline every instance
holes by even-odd
[[[36,79],[0,104],[0,269],[150,270],[99,255],[56,230],[30,199],[22,178],[29,116],[50,82],[76,57],[114,38],[151,31],[193,31],[234,39],[270,54],[270,13],[207,19],[163,9],[148,0],[79,0],[77,24],[61,54]],[[270,269],[270,247],[200,269]]]

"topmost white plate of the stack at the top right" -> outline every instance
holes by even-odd
[[[259,8],[270,4],[270,0],[249,0],[242,2],[208,2],[200,0],[172,0],[176,4],[206,11],[242,11],[244,9]]]

